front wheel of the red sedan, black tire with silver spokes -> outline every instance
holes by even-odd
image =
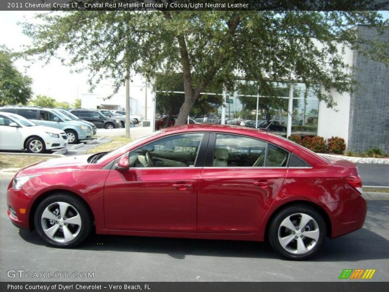
[[[66,211],[64,214],[61,214],[61,211],[59,211],[59,204],[69,205],[65,208]],[[45,210],[50,210],[50,212],[46,212],[45,214],[51,213],[49,217],[53,215],[53,219],[57,218],[55,219],[57,221],[53,222],[54,220],[42,218],[42,214]],[[68,216],[68,218],[64,218],[66,216]],[[67,223],[66,221],[68,220],[68,222],[73,222],[75,219],[80,221],[80,224],[71,224]],[[34,223],[35,229],[39,236],[47,244],[59,248],[70,248],[77,246],[88,237],[92,228],[91,216],[84,202],[77,197],[71,196],[65,192],[57,192],[54,195],[41,201],[34,215]],[[47,235],[47,233],[50,233],[48,231],[49,228],[56,230],[52,237]],[[68,236],[67,239],[65,237],[65,233],[71,236]]]

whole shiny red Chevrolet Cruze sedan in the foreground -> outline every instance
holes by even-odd
[[[355,164],[265,131],[163,129],[114,151],[20,170],[8,216],[54,247],[97,234],[264,241],[290,259],[362,227]]]

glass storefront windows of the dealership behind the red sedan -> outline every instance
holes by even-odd
[[[175,124],[179,108],[184,101],[181,78],[177,74],[175,78],[168,78],[166,88],[162,83],[157,87],[156,117],[166,120],[157,120],[156,129]],[[291,103],[291,133],[317,135],[320,85],[311,84],[307,87],[304,83],[292,83],[293,97],[290,97],[290,84],[269,81],[258,86],[253,81],[240,80],[236,91],[226,92],[224,123],[265,129],[286,137]],[[222,111],[223,88],[219,84],[202,92],[190,113],[189,123],[221,124]]]

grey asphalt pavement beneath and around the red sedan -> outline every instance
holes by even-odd
[[[369,281],[389,280],[389,201],[369,201],[362,229],[327,239],[307,261],[285,260],[268,244],[247,241],[91,235],[74,249],[55,249],[7,218],[9,180],[0,179],[0,281],[339,281],[343,269],[376,269]],[[7,276],[17,270],[62,274]],[[73,272],[94,277],[69,278]]]

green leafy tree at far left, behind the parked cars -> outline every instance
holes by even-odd
[[[32,95],[32,79],[15,68],[12,58],[6,48],[0,47],[0,106],[25,105]]]

